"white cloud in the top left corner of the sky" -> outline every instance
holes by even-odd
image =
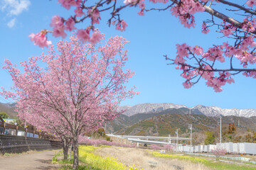
[[[9,16],[18,16],[28,10],[29,0],[1,0],[1,11],[7,11]]]

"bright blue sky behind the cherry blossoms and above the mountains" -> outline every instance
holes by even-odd
[[[9,4],[17,2],[16,6]],[[22,3],[21,3],[22,2]],[[18,7],[17,7],[18,6]],[[30,33],[38,33],[43,28],[50,29],[50,19],[53,15],[68,18],[71,11],[61,7],[56,1],[3,0],[0,2],[0,65],[4,59],[18,64],[28,60],[33,55],[41,55],[47,51],[34,46],[29,40]],[[72,10],[72,9],[71,9]],[[127,69],[136,72],[128,86],[137,86],[139,96],[122,102],[122,105],[138,103],[175,103],[193,107],[198,104],[204,106],[219,106],[221,108],[255,108],[256,109],[256,80],[238,75],[235,84],[223,86],[223,91],[215,93],[201,80],[191,89],[184,89],[181,72],[174,66],[167,65],[163,55],[176,56],[176,44],[186,42],[188,45],[211,47],[222,44],[223,38],[212,29],[208,35],[201,33],[201,21],[208,17],[207,13],[196,15],[196,28],[183,28],[178,19],[171,16],[170,11],[145,13],[137,15],[137,8],[127,8],[121,12],[127,21],[125,32],[107,26],[109,13],[101,14],[102,22],[98,26],[105,39],[114,35],[122,35],[130,41],[126,46],[129,50]],[[86,23],[77,28],[86,27]],[[60,38],[49,36],[55,44]],[[68,40],[68,38],[66,38]],[[225,65],[224,65],[225,67]],[[0,86],[9,89],[12,86],[11,77],[4,69],[0,69]],[[6,103],[11,99],[0,97],[0,102]]]

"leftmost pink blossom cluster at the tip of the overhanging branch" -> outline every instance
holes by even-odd
[[[39,47],[48,47],[48,45],[51,45],[51,42],[47,40],[46,38],[46,32],[41,31],[41,33],[31,33],[28,37],[31,38],[31,41],[34,42],[34,45],[38,45]]]

